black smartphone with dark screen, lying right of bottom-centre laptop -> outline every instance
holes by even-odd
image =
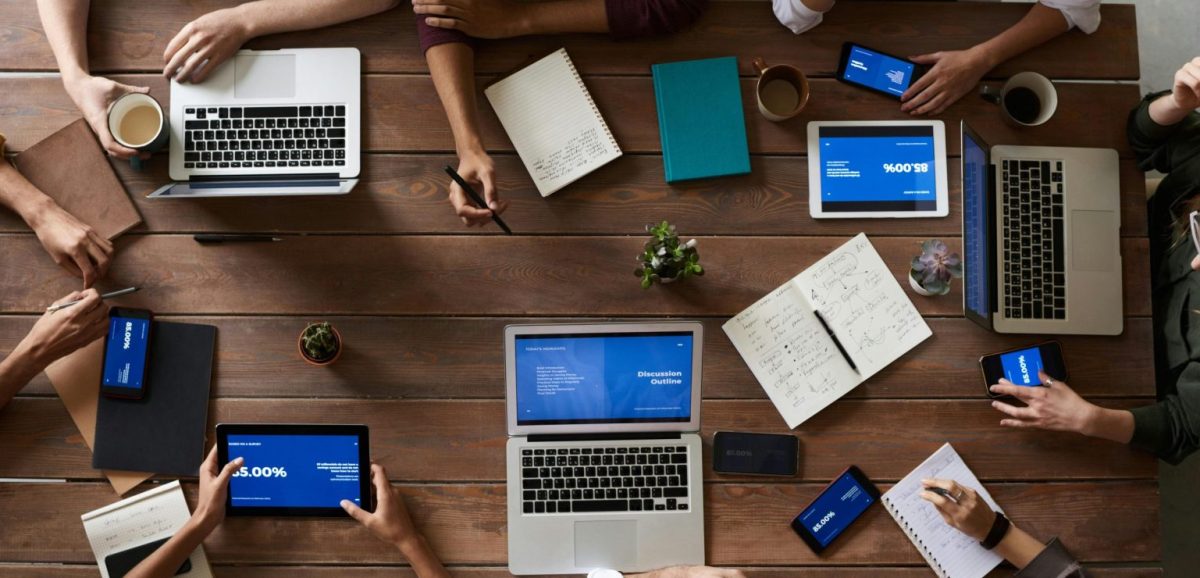
[[[799,451],[794,435],[716,432],[713,435],[713,471],[794,476]]]

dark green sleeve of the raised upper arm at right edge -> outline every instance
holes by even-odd
[[[1170,173],[1177,163],[1196,153],[1200,114],[1193,112],[1183,121],[1170,126],[1159,125],[1150,118],[1150,103],[1169,94],[1166,90],[1146,95],[1129,113],[1126,131],[1141,170]]]

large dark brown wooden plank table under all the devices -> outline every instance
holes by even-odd
[[[92,68],[145,84],[162,100],[167,41],[186,22],[229,0],[95,1]],[[706,440],[714,431],[786,432],[779,414],[720,331],[725,318],[865,230],[904,282],[918,243],[960,243],[959,119],[994,143],[1104,146],[1121,152],[1126,330],[1064,337],[1072,383],[1111,407],[1153,399],[1145,185],[1124,138],[1135,84],[1060,84],[1052,121],[1006,126],[968,97],[941,116],[950,133],[950,216],[913,221],[809,217],[806,121],[904,119],[894,104],[829,77],[842,40],[900,54],[966,47],[1016,22],[1024,5],[846,2],[794,37],[763,4],[714,2],[690,31],[611,42],[599,36],[488,43],[480,80],[565,46],[625,156],[550,199],[538,195],[484,104],[485,142],[505,219],[520,235],[467,229],[446,200],[440,167],[454,162],[442,107],[416,47],[408,8],[328,30],[258,40],[251,47],[356,46],[364,68],[364,179],[348,197],[144,199],[167,179],[166,156],[137,174],[116,168],[145,217],[118,242],[106,288],[145,288],[128,306],[164,319],[220,327],[210,421],[364,422],[373,457],[388,466],[416,523],[456,574],[504,576],[504,373],[502,327],[530,320],[688,318],[704,320]],[[996,78],[1036,70],[1055,79],[1134,80],[1133,6],[1104,6],[1093,36],[1070,32]],[[20,151],[78,116],[56,77],[31,2],[0,2],[0,128]],[[667,186],[652,62],[737,55],[752,173]],[[788,62],[815,79],[798,119],[773,124],[755,109],[750,60]],[[24,74],[30,73],[30,74]],[[480,102],[486,102],[480,100]],[[65,167],[68,167],[65,163]],[[708,273],[643,291],[631,275],[643,225],[668,218],[700,239]],[[198,231],[274,233],[269,245],[202,247]],[[0,215],[0,350],[78,281],[54,266],[12,215]],[[854,463],[887,489],[950,441],[1012,518],[1042,538],[1060,536],[1103,568],[1098,576],[1158,576],[1156,462],[1128,447],[1074,434],[1015,432],[983,399],[977,359],[1030,343],[962,318],[961,295],[913,296],[934,337],[800,426],[800,472],[790,480],[706,474],[708,562],[752,576],[931,576],[917,550],[874,508],[823,558],[787,523],[838,471]],[[305,323],[329,319],[347,343],[330,368],[301,362]],[[0,484],[0,576],[95,576],[79,514],[116,499],[38,378],[0,413],[0,477],[66,484]],[[196,483],[186,481],[190,499]],[[400,555],[348,520],[227,520],[205,543],[218,576],[409,576]],[[65,566],[41,566],[42,564]],[[1148,562],[1148,564],[1147,564]],[[877,566],[880,570],[864,570]],[[1006,572],[1002,572],[1006,573]]]

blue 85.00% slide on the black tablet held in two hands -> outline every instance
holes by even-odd
[[[229,480],[235,507],[362,505],[355,435],[229,435],[228,444],[230,460],[246,459]]]

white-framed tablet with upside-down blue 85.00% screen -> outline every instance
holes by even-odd
[[[940,120],[809,122],[814,218],[949,215]]]

